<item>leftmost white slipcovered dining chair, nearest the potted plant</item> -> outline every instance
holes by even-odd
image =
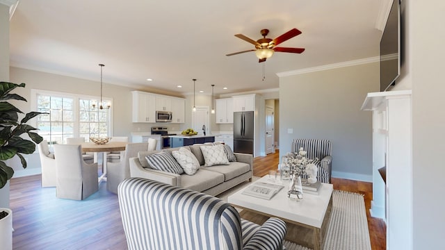
[[[42,167],[42,187],[56,187],[56,160],[54,153],[48,148],[47,140],[42,140],[37,145],[40,156],[40,166]]]

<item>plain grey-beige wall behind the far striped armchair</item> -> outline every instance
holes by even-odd
[[[378,72],[369,63],[281,77],[280,155],[294,138],[329,139],[332,176],[371,181],[372,119],[360,108],[379,90]]]

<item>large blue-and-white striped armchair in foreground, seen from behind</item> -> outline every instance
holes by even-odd
[[[282,249],[281,219],[259,226],[208,194],[128,178],[118,197],[129,249]]]

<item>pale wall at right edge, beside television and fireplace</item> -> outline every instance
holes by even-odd
[[[445,234],[445,1],[402,1],[412,83],[413,248],[437,249]]]

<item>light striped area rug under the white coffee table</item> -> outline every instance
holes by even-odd
[[[254,177],[253,181],[259,178]],[[250,185],[245,182],[218,195],[227,201],[227,197]],[[293,242],[284,241],[287,250],[309,250]],[[325,250],[371,250],[368,220],[362,194],[334,190],[332,193],[332,212],[325,239]]]

